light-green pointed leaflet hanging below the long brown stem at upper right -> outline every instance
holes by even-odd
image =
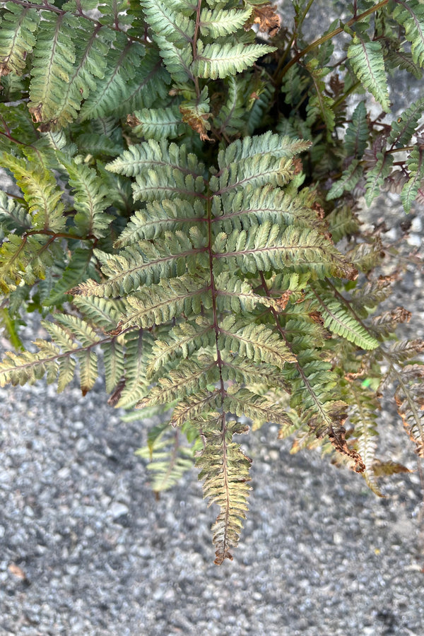
[[[389,90],[380,42],[367,42],[364,37],[355,35],[348,46],[348,59],[363,87],[389,112]]]

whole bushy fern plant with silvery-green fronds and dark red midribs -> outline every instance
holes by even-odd
[[[291,25],[263,0],[1,8],[0,319],[19,349],[38,310],[47,338],[6,353],[0,384],[78,372],[86,394],[100,356],[111,406],[168,413],[141,454],[156,491],[195,461],[218,564],[247,512],[246,418],[294,450],[319,440],[380,494],[406,470],[376,457],[390,385],[424,456],[424,342],[379,312],[400,266],[378,276],[357,218],[383,187],[424,199],[424,100],[390,114],[387,84],[421,76],[424,6],[355,1],[308,43],[313,0],[292,4]]]

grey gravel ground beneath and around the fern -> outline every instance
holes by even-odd
[[[396,240],[404,214],[379,210]],[[424,237],[410,218],[407,250]],[[415,309],[414,337],[420,276],[411,267],[395,301]],[[1,636],[422,635],[423,490],[389,404],[384,446],[414,472],[384,499],[316,452],[290,455],[273,425],[246,437],[249,517],[234,562],[216,567],[196,475],[155,501],[134,456],[151,421],[122,423],[100,381],[86,398],[40,382],[0,399]]]

